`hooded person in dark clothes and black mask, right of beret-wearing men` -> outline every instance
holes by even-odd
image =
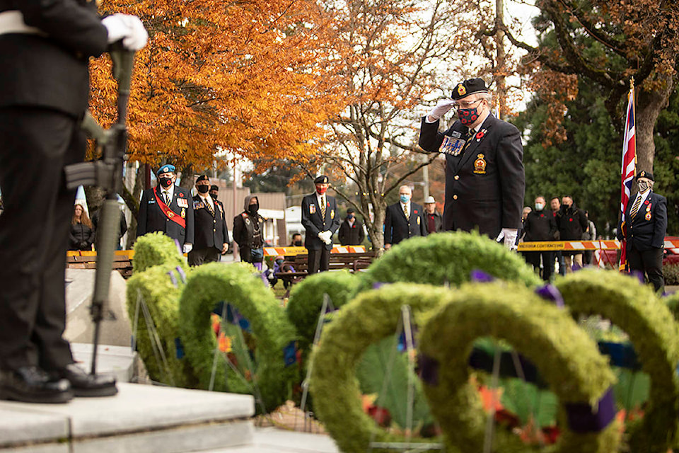
[[[262,270],[265,219],[259,214],[260,200],[255,195],[248,195],[243,207],[245,210],[233,219],[233,240],[240,248],[240,260]]]

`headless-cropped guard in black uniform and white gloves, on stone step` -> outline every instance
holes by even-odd
[[[0,398],[63,403],[117,391],[114,379],[74,365],[62,338],[75,200],[64,166],[85,155],[88,58],[121,39],[139,50],[146,38],[134,16],[100,19],[95,1],[0,0]]]

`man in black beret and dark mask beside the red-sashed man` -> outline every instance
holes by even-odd
[[[228,229],[224,206],[209,195],[210,180],[201,175],[196,180],[197,194],[193,197],[194,243],[189,253],[192,266],[219,260],[228,250]]]

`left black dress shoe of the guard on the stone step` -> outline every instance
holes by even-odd
[[[42,369],[31,366],[0,372],[0,398],[24,403],[67,403],[73,391],[66,379],[50,379]]]

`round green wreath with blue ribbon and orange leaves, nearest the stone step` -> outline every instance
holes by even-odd
[[[252,265],[209,263],[194,268],[180,299],[180,332],[202,389],[209,388],[217,347],[210,314],[221,301],[228,302],[248,321],[256,343],[255,369],[248,382],[219,354],[214,389],[251,394],[256,382],[265,411],[271,411],[286,401],[296,377],[294,327],[271,290],[253,273]],[[257,404],[257,411],[261,410]]]

